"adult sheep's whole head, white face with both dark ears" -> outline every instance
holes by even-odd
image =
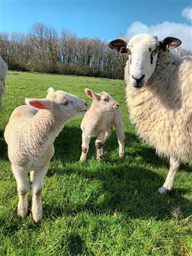
[[[178,38],[166,37],[159,42],[157,36],[141,34],[133,36],[128,43],[121,39],[114,40],[109,47],[128,54],[130,82],[134,88],[141,88],[156,69],[158,52],[168,52],[180,44]]]

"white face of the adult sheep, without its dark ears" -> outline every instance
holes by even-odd
[[[159,51],[156,36],[133,36],[127,44],[129,54],[130,82],[134,88],[144,86],[154,73]]]

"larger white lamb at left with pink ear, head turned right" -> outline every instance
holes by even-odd
[[[49,88],[46,99],[26,99],[16,108],[6,125],[4,138],[19,193],[18,216],[28,213],[28,172],[32,184],[32,213],[38,223],[42,219],[42,187],[54,154],[53,142],[66,122],[83,115],[87,103],[63,91]],[[33,107],[33,108],[31,108]]]

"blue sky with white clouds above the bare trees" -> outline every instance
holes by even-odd
[[[28,33],[35,22],[79,37],[113,40],[124,34],[175,36],[191,49],[191,1],[0,0],[0,31]]]

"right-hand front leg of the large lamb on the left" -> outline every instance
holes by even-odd
[[[49,168],[49,163],[34,172],[34,180],[32,185],[32,214],[33,220],[38,223],[42,219],[42,188],[44,177]]]

